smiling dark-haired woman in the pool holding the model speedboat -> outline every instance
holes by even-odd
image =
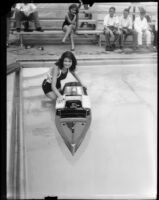
[[[42,88],[45,95],[51,100],[63,101],[64,97],[60,93],[61,91],[61,80],[67,77],[68,71],[76,78],[81,84],[81,80],[75,73],[77,60],[74,54],[70,51],[66,51],[62,54],[59,60],[49,69],[47,78],[42,83]]]

